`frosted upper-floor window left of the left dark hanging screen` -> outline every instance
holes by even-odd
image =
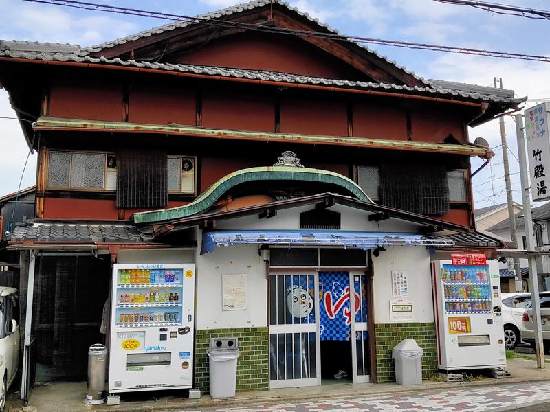
[[[116,190],[116,158],[98,152],[50,151],[47,187]]]

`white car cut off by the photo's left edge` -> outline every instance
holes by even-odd
[[[17,289],[0,286],[0,411],[19,367],[19,295]]]

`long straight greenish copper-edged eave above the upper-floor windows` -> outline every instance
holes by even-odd
[[[367,137],[298,135],[292,133],[250,132],[247,130],[222,130],[199,128],[185,125],[138,124],[129,122],[102,122],[85,119],[61,119],[39,117],[34,130],[83,131],[107,133],[151,133],[188,137],[206,137],[211,139],[233,139],[269,141],[283,143],[327,144],[331,146],[351,146],[355,148],[375,148],[386,150],[405,150],[412,152],[431,152],[448,155],[478,156],[490,159],[494,153],[488,148],[461,144],[439,144],[424,141],[372,139]]]

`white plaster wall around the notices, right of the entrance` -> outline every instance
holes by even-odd
[[[412,300],[412,322],[433,322],[432,275],[430,254],[426,247],[386,247],[378,258],[373,257],[374,322],[391,323],[391,272],[408,273],[409,296]]]

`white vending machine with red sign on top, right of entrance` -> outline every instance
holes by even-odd
[[[432,272],[439,369],[505,369],[498,262],[452,255]]]

